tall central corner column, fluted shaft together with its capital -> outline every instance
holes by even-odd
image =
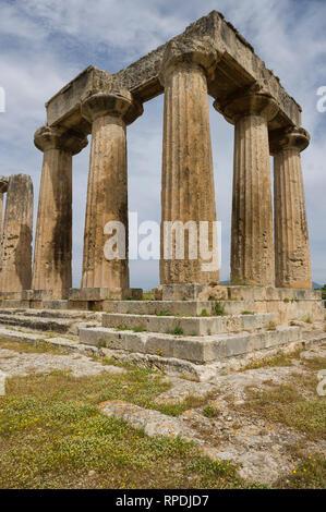
[[[165,87],[159,267],[162,284],[219,280],[207,96],[207,73],[214,70],[217,60],[218,54],[208,41],[193,39],[181,45],[171,41],[162,60],[159,75]],[[208,221],[207,247],[200,243],[201,221]],[[182,223],[179,231],[177,224],[172,229],[174,222]],[[183,231],[190,227],[188,222],[192,222],[192,228]],[[181,240],[184,253],[178,255]],[[203,249],[214,252],[214,256],[203,254]]]

